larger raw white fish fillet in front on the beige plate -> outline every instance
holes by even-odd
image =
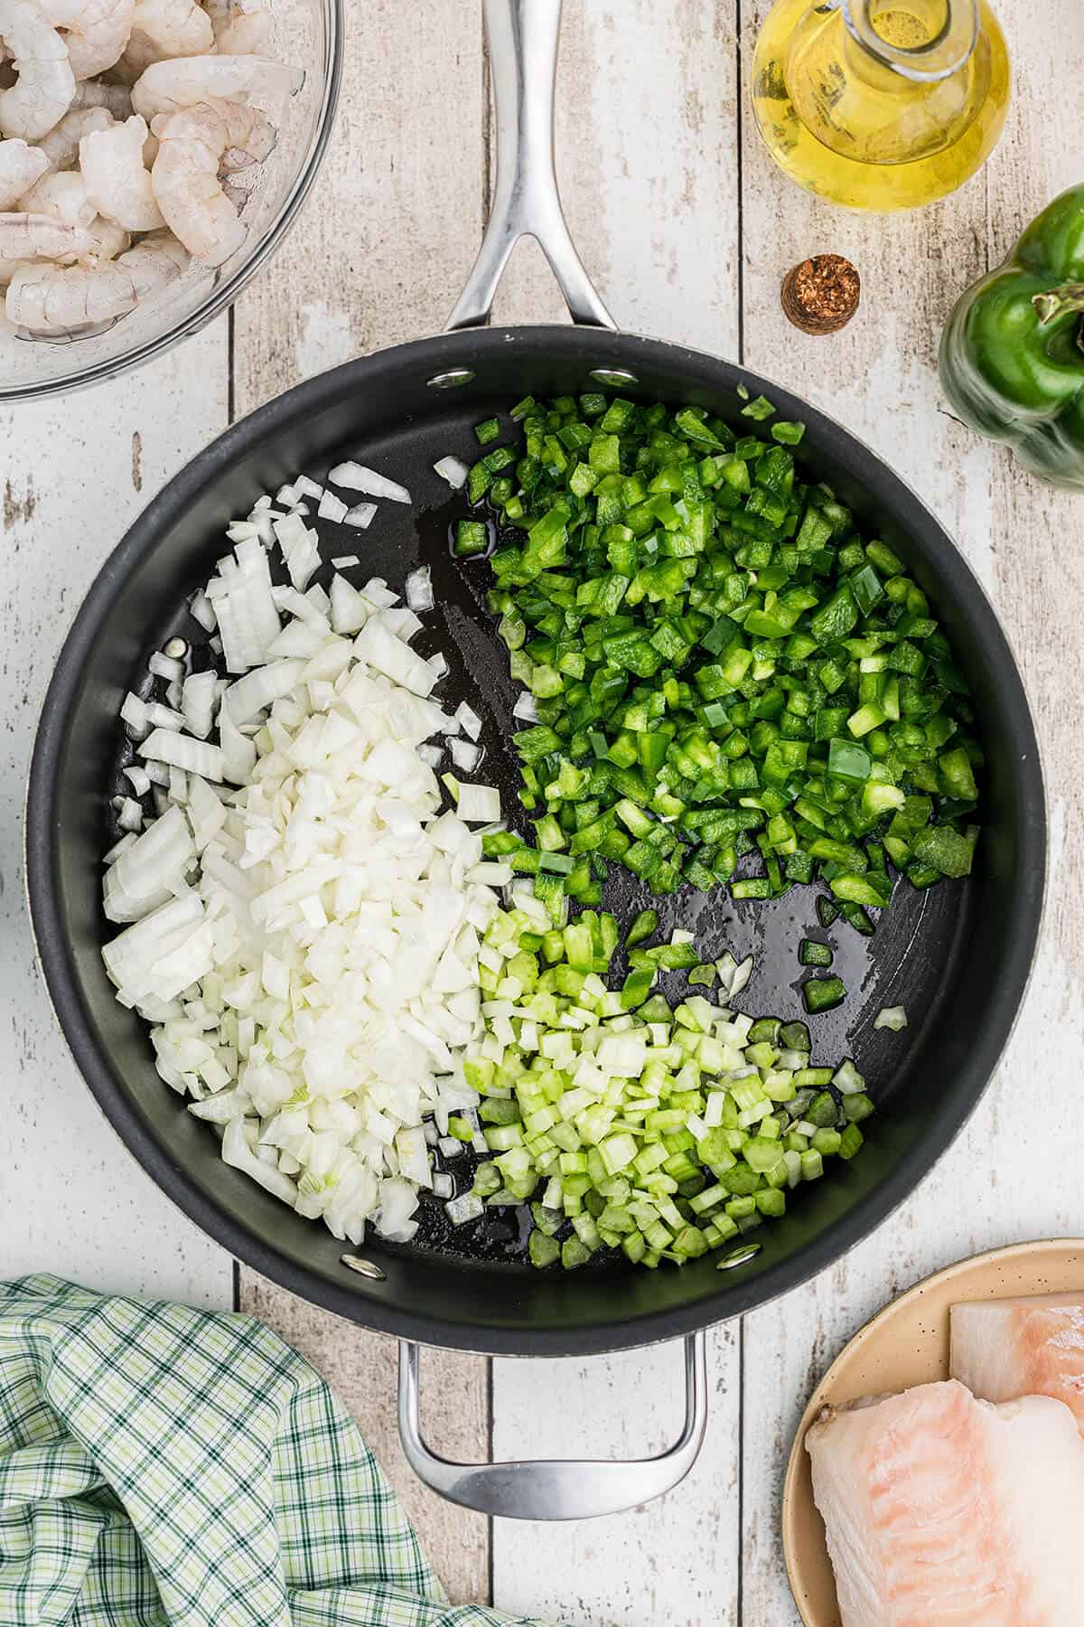
[[[1081,1627],[1084,1440],[1060,1401],[920,1385],[827,1407],[806,1450],[842,1627]]]

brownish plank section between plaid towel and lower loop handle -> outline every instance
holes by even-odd
[[[403,1498],[452,1603],[484,1599],[488,1521],[429,1492],[403,1456],[395,1420],[397,1341],[353,1328],[249,1269],[244,1271],[242,1310],[301,1350],[349,1409],[366,1445]],[[489,1453],[484,1363],[453,1350],[423,1350],[421,1415],[426,1440],[436,1451],[465,1463],[484,1459]]]

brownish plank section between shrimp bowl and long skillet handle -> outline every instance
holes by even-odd
[[[343,93],[297,225],[234,309],[234,403],[437,332],[483,223],[478,7],[348,7]]]

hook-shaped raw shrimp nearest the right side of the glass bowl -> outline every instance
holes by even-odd
[[[154,135],[161,146],[151,181],[166,223],[197,260],[221,265],[247,228],[219,185],[219,171],[267,158],[273,127],[255,107],[213,98],[156,119]]]

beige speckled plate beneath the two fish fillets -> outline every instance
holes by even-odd
[[[1016,1243],[947,1266],[879,1311],[829,1367],[804,1411],[783,1485],[783,1557],[806,1627],[840,1627],[824,1523],[813,1502],[806,1430],[822,1406],[949,1378],[949,1306],[1084,1289],[1084,1240]]]

